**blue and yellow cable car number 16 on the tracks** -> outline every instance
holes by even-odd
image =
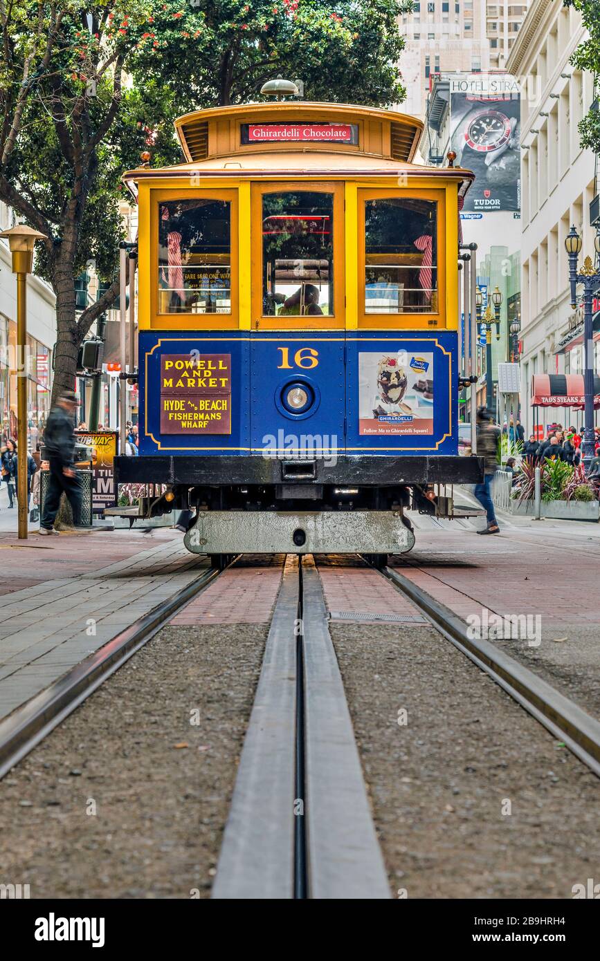
[[[117,482],[159,485],[146,516],[189,509],[188,550],[217,563],[410,550],[407,509],[451,516],[446,485],[481,478],[458,431],[473,175],[414,163],[421,122],[370,107],[218,107],[176,130],[186,162],[124,177],[139,456]]]

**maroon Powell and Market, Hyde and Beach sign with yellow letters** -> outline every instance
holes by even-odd
[[[231,354],[163,354],[161,433],[231,433]]]

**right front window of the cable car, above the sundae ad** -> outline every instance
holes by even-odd
[[[367,200],[364,312],[437,311],[437,205],[412,198]]]

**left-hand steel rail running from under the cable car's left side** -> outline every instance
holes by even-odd
[[[0,778],[221,572],[209,568],[0,721]]]

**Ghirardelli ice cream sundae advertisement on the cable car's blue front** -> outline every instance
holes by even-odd
[[[359,354],[361,434],[434,432],[434,356]]]

